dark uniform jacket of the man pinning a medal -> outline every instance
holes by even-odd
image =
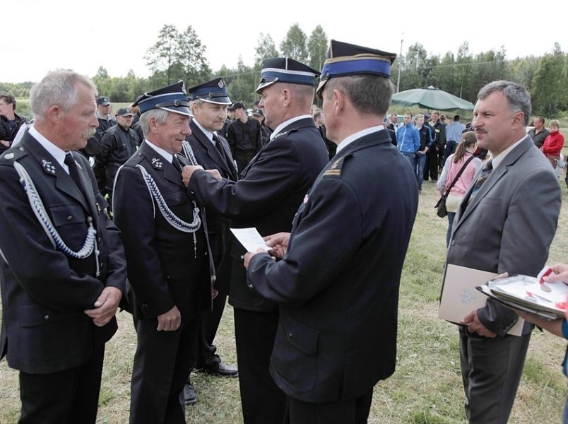
[[[271,235],[290,231],[298,206],[328,160],[314,119],[299,119],[266,143],[238,182],[217,181],[207,172],[196,171],[189,189],[208,210],[232,218],[234,227],[256,227],[261,235]],[[245,252],[233,240],[229,303],[245,310],[276,311],[276,304],[247,289],[240,259]]]

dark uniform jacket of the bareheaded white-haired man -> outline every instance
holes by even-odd
[[[119,233],[107,218],[107,202],[97,189],[85,158],[73,152],[83,192],[33,136],[26,132],[18,146],[0,158],[0,261],[2,273],[1,356],[24,372],[58,372],[84,363],[95,348],[117,330],[116,319],[97,327],[84,310],[105,286],[125,292],[126,263]],[[35,217],[13,163],[30,175],[47,214],[66,245],[83,246],[88,218],[93,218],[100,250],[100,276],[95,256],[72,259],[52,245]],[[126,298],[126,295],[124,295]]]

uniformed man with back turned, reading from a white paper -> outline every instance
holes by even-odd
[[[244,258],[249,287],[280,305],[271,375],[292,424],[367,423],[374,384],[394,372],[398,285],[418,207],[415,175],[383,126],[394,57],[331,40],[318,94],[336,156],[292,233],[268,239],[283,260]]]

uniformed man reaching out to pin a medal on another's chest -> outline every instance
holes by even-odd
[[[318,73],[289,58],[264,61],[256,92],[274,132],[242,179],[217,181],[199,167],[184,168],[184,182],[208,211],[232,218],[235,228],[256,227],[261,235],[290,230],[307,189],[328,162],[326,146],[309,114]],[[247,288],[244,253],[244,247],[232,240],[229,302],[235,312],[244,423],[280,423],[285,395],[268,373],[278,307]]]

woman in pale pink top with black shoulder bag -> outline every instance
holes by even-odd
[[[436,184],[437,190],[440,194],[444,194],[448,189],[449,185],[461,167],[466,163],[466,161],[473,155],[475,148],[477,148],[478,141],[475,139],[475,133],[473,131],[467,131],[461,134],[461,140],[456,146],[456,153],[448,156],[446,163],[444,163],[444,169],[442,170],[442,175],[440,175],[438,182]],[[461,204],[463,196],[468,191],[468,188],[473,181],[475,175],[477,175],[480,170],[482,162],[478,158],[473,158],[466,169],[463,170],[458,181],[451,187],[451,190],[446,199],[446,210],[448,211],[448,230],[446,232],[446,245],[449,245],[449,240],[451,237],[451,226],[454,223],[454,218],[458,207]]]

